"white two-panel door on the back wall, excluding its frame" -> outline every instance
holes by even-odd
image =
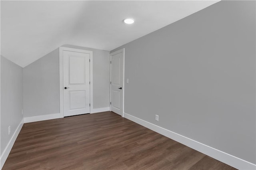
[[[64,117],[90,113],[90,54],[63,51]]]

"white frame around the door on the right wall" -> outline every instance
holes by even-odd
[[[123,70],[122,70],[122,72],[123,72],[123,87],[122,87],[122,90],[123,90],[123,107],[122,107],[122,117],[124,117],[124,48],[122,48],[122,49],[119,49],[119,50],[117,50],[117,51],[114,51],[114,52],[112,52],[112,53],[110,53],[110,82],[111,82],[111,78],[112,78],[112,73],[111,73],[111,70],[112,70],[112,65],[111,65],[111,61],[112,61],[112,55],[116,55],[116,54],[118,54],[118,53],[123,53]],[[110,83],[109,83],[110,84]],[[111,84],[110,84],[110,103],[111,103]],[[111,111],[111,105],[109,105],[110,106],[110,111]]]

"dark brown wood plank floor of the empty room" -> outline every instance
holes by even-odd
[[[112,112],[23,125],[3,170],[233,170]]]

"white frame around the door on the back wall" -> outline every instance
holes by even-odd
[[[63,51],[74,51],[79,53],[89,53],[90,54],[90,113],[92,113],[93,108],[93,79],[92,79],[92,51],[87,51],[83,49],[59,47],[59,67],[60,67],[60,117],[64,117],[64,85],[63,85]]]

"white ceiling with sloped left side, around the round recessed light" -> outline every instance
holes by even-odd
[[[1,55],[25,67],[64,44],[110,51],[216,2],[1,0]]]

